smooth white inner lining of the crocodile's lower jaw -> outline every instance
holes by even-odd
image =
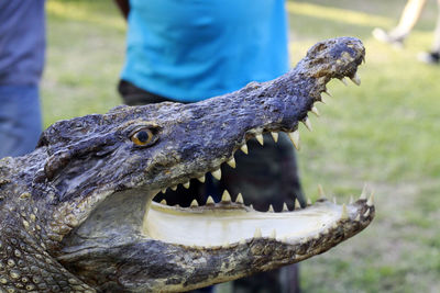
[[[305,209],[297,205],[294,211],[280,213],[271,210],[257,212],[245,206],[241,200],[232,202],[230,196],[220,203],[190,207],[152,202],[144,216],[142,234],[167,244],[205,248],[230,246],[255,238],[295,244],[323,236],[344,225],[367,225],[373,212],[372,202],[363,198],[348,205],[337,205],[322,199]]]

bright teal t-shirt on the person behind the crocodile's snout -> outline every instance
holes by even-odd
[[[288,70],[284,0],[130,0],[121,78],[195,102]]]

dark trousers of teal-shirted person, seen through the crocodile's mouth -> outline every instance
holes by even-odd
[[[172,101],[151,92],[146,92],[128,81],[121,81],[118,87],[125,104],[140,105]],[[256,139],[248,142],[249,155],[241,150],[235,153],[237,168],[223,164],[220,181],[207,176],[201,184],[191,180],[189,189],[182,185],[176,191],[168,189],[165,195],[158,194],[155,201],[166,198],[168,204],[189,206],[197,196],[199,202],[206,201],[208,195],[219,200],[227,189],[232,198],[239,192],[243,194],[245,204],[253,204],[257,211],[266,212],[270,204],[275,211],[282,211],[283,203],[293,209],[295,199],[306,204],[301,191],[295,151],[292,142],[285,133],[279,133],[275,144],[271,135],[264,135],[264,146]],[[233,292],[299,292],[297,266],[285,267],[233,282]]]

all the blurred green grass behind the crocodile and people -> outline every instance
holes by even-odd
[[[377,202],[364,233],[302,262],[305,292],[440,292],[440,68],[416,60],[430,47],[435,1],[404,50],[371,36],[375,26],[392,27],[405,2],[287,2],[293,64],[334,36],[360,37],[367,52],[362,87],[330,83],[334,98],[318,105],[314,133],[301,132],[305,191],[316,199],[321,183],[346,202],[367,182]],[[125,25],[112,1],[48,0],[47,16],[45,125],[119,104]]]

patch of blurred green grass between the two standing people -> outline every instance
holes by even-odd
[[[120,104],[125,24],[112,1],[47,1],[46,8],[44,125]]]

